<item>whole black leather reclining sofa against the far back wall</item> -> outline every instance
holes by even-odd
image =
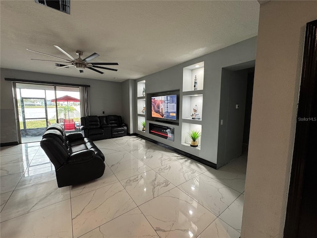
[[[121,116],[87,116],[82,117],[80,129],[84,136],[92,140],[103,140],[127,135],[127,125]]]

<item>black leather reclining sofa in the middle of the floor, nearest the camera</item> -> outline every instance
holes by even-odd
[[[81,133],[66,135],[59,124],[50,125],[41,147],[55,167],[58,187],[98,179],[105,172],[105,156]]]

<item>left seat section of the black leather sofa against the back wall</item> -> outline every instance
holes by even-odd
[[[92,140],[103,140],[111,138],[111,128],[106,122],[106,116],[87,116],[80,118],[80,129],[84,136]]]

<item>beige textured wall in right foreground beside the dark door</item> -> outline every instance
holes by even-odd
[[[281,238],[285,223],[306,23],[317,1],[260,7],[242,238]]]

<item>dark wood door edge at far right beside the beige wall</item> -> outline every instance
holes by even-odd
[[[317,20],[307,23],[300,86],[295,142],[289,185],[284,238],[298,237],[304,177],[312,145],[312,133],[317,127]],[[317,134],[315,134],[315,145]],[[315,158],[316,159],[316,158]],[[317,169],[317,168],[316,168]]]

